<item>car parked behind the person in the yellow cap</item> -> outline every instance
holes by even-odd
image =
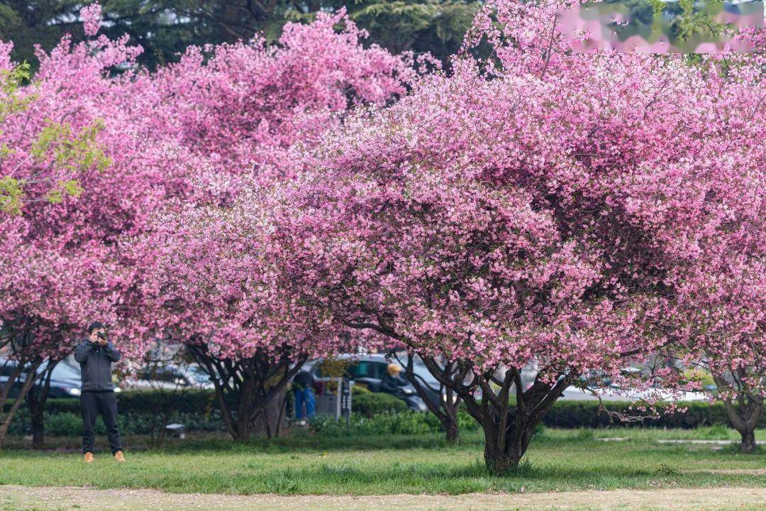
[[[355,385],[364,385],[372,392],[381,391],[381,379],[388,371],[388,364],[392,362],[386,355],[371,353],[368,355],[355,355],[344,353],[337,355],[336,359],[349,360],[346,367],[346,377]],[[311,373],[314,378],[325,378],[322,375],[322,359],[309,360],[303,365],[303,370]],[[396,363],[396,361],[393,361]],[[423,399],[417,395],[417,391],[411,383],[401,388],[401,394],[395,395],[404,401],[408,408],[414,411],[427,411],[428,407]]]

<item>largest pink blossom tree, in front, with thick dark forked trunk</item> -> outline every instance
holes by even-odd
[[[490,2],[466,39],[489,41],[489,60],[459,57],[450,76],[348,118],[318,147],[296,148],[303,171],[264,192],[266,207],[248,200],[214,215],[233,227],[229,214],[259,219],[234,236],[269,241],[237,245],[243,255],[281,246],[267,272],[281,277],[236,281],[251,320],[275,319],[247,296],[267,290],[300,306],[277,313],[291,329],[312,319],[301,335],[322,319],[404,342],[479,421],[494,473],[519,464],[542,415],[581,375],[680,390],[693,382],[650,360],[689,361],[704,347],[732,361],[731,349],[674,321],[687,306],[679,290],[711,277],[696,270],[703,241],[728,230],[733,201],[755,208],[744,224],[763,213],[762,200],[745,200],[748,177],[764,172],[755,59],[725,74],[716,56],[691,67],[683,57],[571,54],[559,7]],[[445,374],[436,356],[459,371]],[[525,388],[532,363],[538,375]],[[643,370],[626,375],[626,365]]]

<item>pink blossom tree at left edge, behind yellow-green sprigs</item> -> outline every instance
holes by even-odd
[[[0,61],[14,81],[23,67],[10,62],[9,49],[3,45]],[[70,52],[64,39],[50,55],[41,54],[30,84],[3,88],[4,106],[11,107],[3,109],[0,133],[0,348],[11,375],[0,405],[17,381],[21,391],[2,417],[0,441],[41,365],[61,359],[90,318],[107,314],[119,283],[110,257],[119,229],[119,217],[110,212],[119,201],[103,193],[119,179],[104,172],[111,162],[102,145],[109,126],[101,117],[108,110],[100,106],[107,102],[93,98],[113,87],[106,70],[129,61],[135,50],[104,40],[93,44],[97,56],[89,49]]]

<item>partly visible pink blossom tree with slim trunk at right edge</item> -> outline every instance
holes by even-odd
[[[756,164],[719,162],[718,193],[726,207],[719,228],[699,237],[692,264],[678,269],[683,280],[677,287],[678,315],[672,318],[695,341],[684,363],[712,374],[717,386],[712,397],[724,402],[741,434],[741,450],[752,452],[766,399],[766,174],[758,166],[766,153],[760,127],[745,126],[729,129],[728,136],[732,144],[747,147]]]

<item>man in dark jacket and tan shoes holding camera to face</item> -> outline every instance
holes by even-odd
[[[119,360],[119,352],[106,340],[106,329],[99,322],[88,326],[88,337],[74,350],[74,359],[80,363],[82,393],[80,410],[83,414],[83,454],[85,462],[93,463],[93,427],[101,414],[109,435],[112,454],[117,461],[125,461],[123,446],[117,427],[117,401],[112,383],[112,362]]]

